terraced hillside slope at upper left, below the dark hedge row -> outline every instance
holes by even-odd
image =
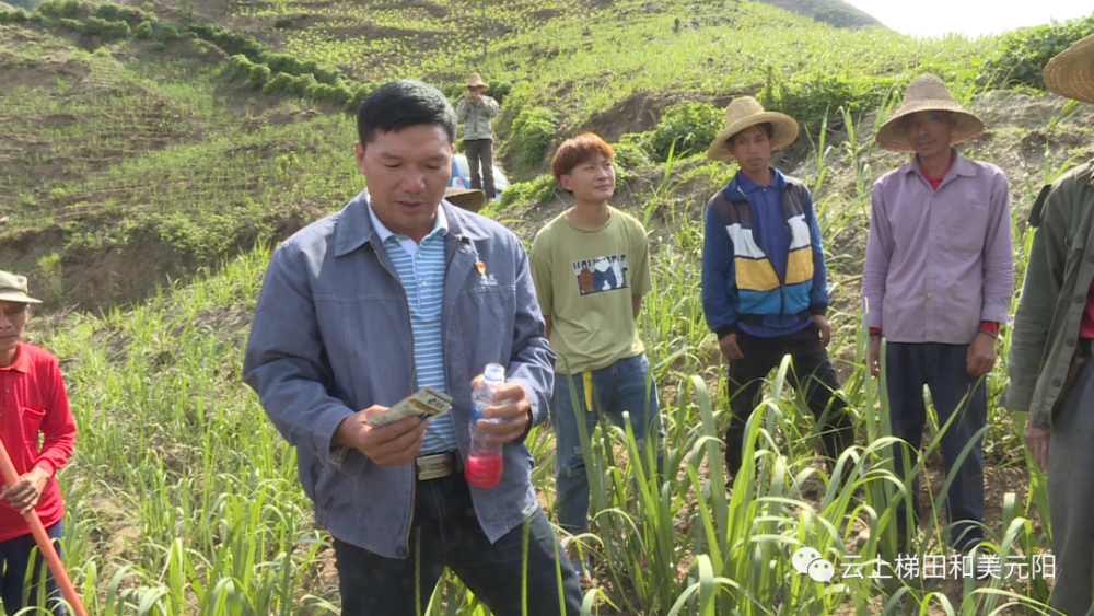
[[[0,25],[0,260],[63,291],[50,301],[139,299],[357,183],[351,118],[242,91],[198,39],[94,38]]]

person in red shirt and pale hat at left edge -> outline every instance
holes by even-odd
[[[24,606],[46,607],[37,603],[42,594],[53,614],[65,614],[44,559],[31,562],[36,543],[24,519],[37,511],[46,534],[61,538],[65,502],[55,476],[75,446],[75,421],[57,358],[22,341],[31,304],[38,303],[27,295],[25,277],[0,271],[0,439],[20,474],[14,486],[0,488],[0,600],[9,616]],[[25,585],[27,567],[33,573]]]

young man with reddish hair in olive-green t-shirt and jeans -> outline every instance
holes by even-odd
[[[556,510],[559,526],[573,535],[589,528],[581,422],[591,434],[602,412],[621,426],[628,411],[640,445],[647,434],[657,434],[659,472],[664,462],[657,390],[636,323],[652,287],[649,243],[641,222],[608,205],[614,158],[612,147],[591,132],[559,146],[551,173],[574,206],[539,230],[531,253],[547,338],[558,353],[550,407]],[[573,548],[570,556],[587,588],[587,560]]]

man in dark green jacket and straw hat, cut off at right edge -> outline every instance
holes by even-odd
[[[1094,103],[1094,36],[1052,58],[1045,85]],[[1094,604],[1094,160],[1046,186],[1029,224],[1037,231],[1014,315],[1002,404],[1029,412],[1026,446],[1048,474],[1051,603],[1079,616]]]

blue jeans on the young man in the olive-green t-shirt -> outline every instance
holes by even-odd
[[[640,446],[645,434],[657,434],[657,473],[663,472],[665,435],[661,428],[661,414],[657,412],[657,387],[649,379],[649,373],[650,362],[645,353],[591,371],[593,408],[587,408],[586,400],[590,398],[585,395],[585,373],[555,374],[550,405],[550,420],[555,426],[555,508],[558,525],[565,531],[577,535],[589,528],[589,475],[581,451],[579,421],[585,422],[585,430],[592,435],[601,414],[616,426],[622,426],[622,411],[629,411]],[[578,408],[574,408],[570,395],[571,381]]]

